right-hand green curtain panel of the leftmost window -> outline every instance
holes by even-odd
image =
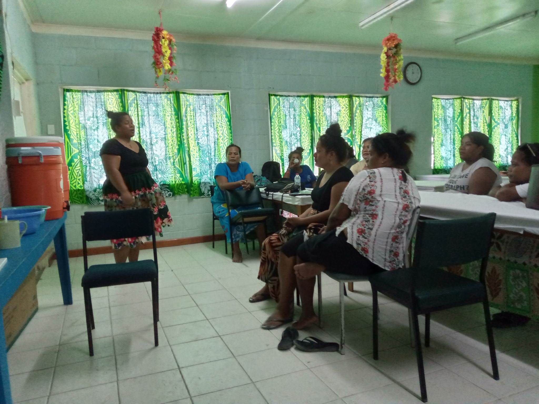
[[[178,93],[178,96],[189,195],[210,196],[215,167],[226,161],[226,147],[232,143],[229,93]]]

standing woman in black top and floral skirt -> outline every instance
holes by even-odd
[[[150,208],[154,212],[155,231],[163,236],[161,227],[170,226],[172,217],[161,189],[151,178],[148,157],[135,136],[133,120],[126,112],[107,111],[110,128],[116,136],[103,143],[99,155],[107,179],[103,183],[106,211]],[[150,235],[148,235],[150,236]],[[110,240],[116,263],[139,259],[139,249],[146,237]]]

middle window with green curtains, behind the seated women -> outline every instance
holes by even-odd
[[[288,154],[305,149],[303,162],[314,169],[316,142],[331,123],[338,122],[342,136],[356,155],[361,141],[388,130],[388,97],[360,95],[269,94],[272,158],[288,167]]]

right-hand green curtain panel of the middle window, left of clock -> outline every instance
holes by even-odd
[[[353,95],[354,150],[361,156],[361,142],[388,131],[388,97]]]

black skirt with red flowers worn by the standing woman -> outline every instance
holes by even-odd
[[[168,210],[167,203],[163,197],[161,189],[151,176],[146,172],[137,172],[132,175],[123,177],[127,188],[135,198],[134,206],[125,206],[120,198],[119,191],[108,180],[103,184],[103,200],[105,200],[106,211],[121,211],[126,209],[150,208],[154,212],[154,227],[155,232],[161,237],[163,236],[162,226],[172,225],[172,217]],[[119,249],[123,246],[135,248],[142,244],[151,235],[143,237],[135,237],[128,239],[110,240],[114,249]]]

